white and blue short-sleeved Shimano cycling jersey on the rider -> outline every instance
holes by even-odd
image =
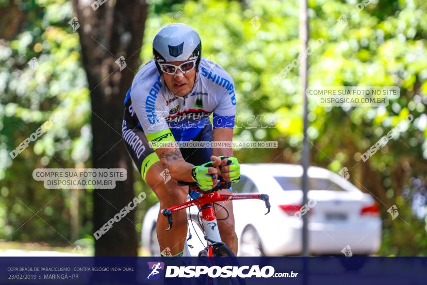
[[[231,76],[203,57],[198,68],[193,90],[179,97],[165,86],[153,60],[143,66],[126,95],[126,129],[141,129],[148,136],[170,129],[176,141],[189,141],[210,124],[212,113],[213,128],[233,128],[236,94]]]

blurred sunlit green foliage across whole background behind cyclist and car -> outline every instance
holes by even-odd
[[[203,56],[234,78],[238,115],[275,118],[271,128],[237,128],[234,134],[235,140],[278,141],[278,149],[242,149],[235,155],[244,163],[298,163],[298,68],[274,81],[299,54],[298,1],[147,3],[143,46],[139,59],[130,60],[138,66],[151,59],[152,38],[163,25],[192,26],[202,38]],[[309,0],[308,12],[310,86],[395,85],[401,90],[386,107],[321,107],[309,101],[312,165],[335,172],[347,167],[350,181],[377,198],[384,219],[379,255],[425,256],[427,2]],[[47,190],[32,177],[34,168],[92,167],[90,89],[79,34],[69,24],[76,16],[72,2],[0,0],[0,16],[0,240],[90,248],[93,191]],[[320,38],[324,42],[316,46]],[[122,114],[120,108],[111,112]],[[12,159],[9,152],[56,112],[61,117],[49,131]],[[414,120],[405,131],[361,161],[363,152],[409,114]],[[139,177],[135,172],[135,194],[146,191],[148,199],[137,208],[137,233],[157,201]],[[392,220],[387,213],[392,205],[400,218]]]

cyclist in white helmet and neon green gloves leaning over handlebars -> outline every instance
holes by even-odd
[[[232,78],[201,57],[201,40],[191,27],[181,23],[163,27],[154,36],[152,48],[154,60],[139,70],[126,95],[122,133],[132,160],[164,209],[185,202],[188,194],[198,196],[178,186],[177,181],[195,181],[202,190],[216,185],[216,175],[238,182],[240,166],[231,147],[194,149],[174,144],[190,140],[231,142],[236,99]],[[213,124],[209,119],[212,113]],[[168,145],[151,144],[151,148],[149,142]],[[213,167],[206,167],[211,161]],[[232,203],[223,207],[215,209],[218,220],[226,218],[218,221],[221,239],[236,254]],[[167,227],[166,218],[159,213],[160,251],[162,255],[168,251],[181,256],[187,235],[186,212],[174,213],[174,226],[170,231],[165,230]]]

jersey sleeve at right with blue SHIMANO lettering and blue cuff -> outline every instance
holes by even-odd
[[[230,84],[224,84],[225,91],[215,109],[213,110],[213,128],[234,127],[234,117],[236,116],[236,93],[234,91],[234,82],[229,77]],[[222,88],[224,90],[224,88]]]

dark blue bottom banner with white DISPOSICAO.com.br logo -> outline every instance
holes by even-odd
[[[427,284],[426,257],[0,257],[0,284]]]

